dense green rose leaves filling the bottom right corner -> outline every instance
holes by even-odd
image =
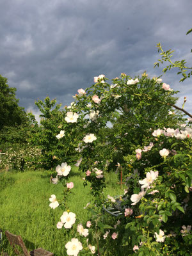
[[[192,129],[191,129],[192,131]],[[162,136],[161,136],[162,137]],[[190,232],[186,234],[188,239],[180,232],[183,225],[189,225],[191,220],[192,202],[189,197],[191,191],[191,139],[178,141],[175,138],[158,138],[156,145],[149,152],[142,156],[140,164],[132,163],[132,166],[139,167],[134,175],[127,176],[128,193],[125,205],[131,207],[131,195],[140,192],[139,180],[145,179],[145,173],[150,170],[159,173],[156,182],[152,183],[141,197],[140,204],[132,207],[134,214],[130,216],[125,225],[124,243],[129,237],[132,246],[142,244],[138,255],[161,255],[161,250],[168,255],[188,255],[192,244]],[[164,137],[164,136],[163,136]],[[159,148],[159,145],[162,145]],[[173,155],[160,159],[159,149],[166,147]],[[172,151],[171,151],[172,150]],[[143,155],[143,153],[142,153]],[[156,157],[156,165],[151,164],[152,156]],[[158,159],[159,158],[159,159]],[[128,162],[129,163],[129,162]],[[143,168],[146,166],[147,168]],[[136,169],[134,169],[136,170]],[[132,180],[132,178],[134,180]],[[153,193],[153,191],[157,191]],[[164,230],[164,244],[152,242],[155,231]],[[131,233],[136,232],[138,239],[132,237]],[[185,244],[185,246],[184,246]],[[166,246],[166,247],[165,247]],[[141,254],[142,255],[142,254]]]

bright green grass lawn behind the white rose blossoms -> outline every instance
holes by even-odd
[[[2,250],[10,256],[14,255],[4,235],[5,230],[20,235],[28,250],[42,247],[54,255],[67,255],[65,244],[75,236],[77,225],[80,222],[85,225],[89,220],[88,212],[83,207],[93,197],[90,195],[90,186],[83,188],[83,177],[84,174],[79,173],[77,168],[72,168],[69,181],[74,182],[74,188],[68,196],[67,205],[71,212],[76,213],[77,221],[64,236],[64,229],[56,228],[63,210],[61,207],[54,210],[49,207],[52,194],[58,199],[62,198],[62,184],[50,184],[50,175],[45,171],[1,172],[0,228],[3,230],[3,243],[0,255]],[[104,189],[104,195],[121,195],[123,188],[120,189],[117,182],[115,173],[106,173],[107,188]]]

